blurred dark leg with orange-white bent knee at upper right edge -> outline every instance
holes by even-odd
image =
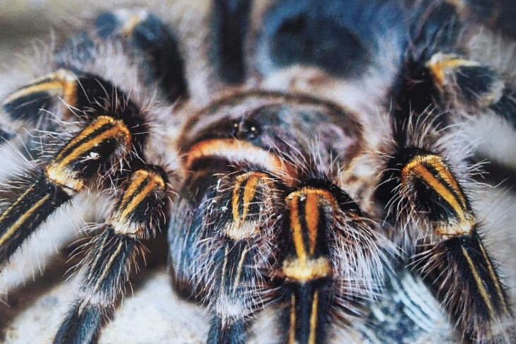
[[[510,152],[516,148],[516,93],[510,84],[489,66],[460,54],[436,53],[426,68],[440,99],[457,113],[452,120],[467,121],[467,133],[483,138],[477,154],[515,170],[516,156]]]

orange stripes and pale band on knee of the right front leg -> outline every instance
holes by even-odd
[[[408,188],[416,182],[424,183],[428,192],[435,192],[443,204],[452,209],[445,221],[436,221],[433,230],[437,235],[452,236],[471,233],[474,215],[469,200],[460,188],[455,176],[443,159],[436,154],[417,154],[402,168],[402,186]],[[415,199],[414,202],[419,202]],[[440,211],[436,207],[430,211]]]

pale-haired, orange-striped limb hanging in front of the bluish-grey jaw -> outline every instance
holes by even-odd
[[[205,217],[205,245],[212,271],[205,301],[213,317],[208,344],[246,343],[248,319],[263,308],[270,288],[266,276],[276,250],[274,238],[278,190],[270,175],[234,173],[221,180]]]

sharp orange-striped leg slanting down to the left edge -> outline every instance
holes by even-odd
[[[35,182],[11,199],[0,214],[0,261],[8,259],[25,238],[85,183],[131,150],[131,131],[121,119],[98,116],[54,158],[34,172]]]

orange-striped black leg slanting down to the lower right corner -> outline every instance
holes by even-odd
[[[389,161],[385,180],[392,197],[390,216],[403,232],[412,266],[464,338],[505,343],[504,326],[512,319],[508,293],[448,162],[425,149],[402,148]]]

